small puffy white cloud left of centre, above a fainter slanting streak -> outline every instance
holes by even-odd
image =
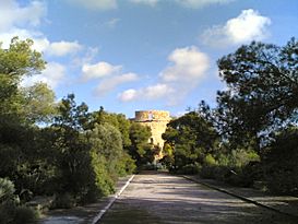
[[[86,82],[90,80],[111,75],[119,72],[121,68],[121,66],[112,66],[105,61],[100,61],[94,64],[85,63],[82,67],[82,80]]]

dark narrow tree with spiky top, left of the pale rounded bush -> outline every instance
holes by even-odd
[[[53,152],[58,168],[57,185],[59,193],[70,192],[78,201],[94,190],[94,172],[92,168],[91,144],[84,134],[88,121],[88,107],[76,105],[74,94],[61,101],[58,115],[51,126],[51,141],[48,150]]]

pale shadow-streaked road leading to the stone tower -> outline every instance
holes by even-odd
[[[167,174],[136,175],[100,223],[276,223],[287,216]]]

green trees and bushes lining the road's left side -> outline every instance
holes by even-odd
[[[51,207],[93,202],[115,191],[120,176],[153,160],[151,130],[102,107],[90,113],[74,94],[55,102],[44,83],[22,87],[46,62],[33,42],[0,48],[0,223],[27,223],[24,204],[53,197]]]

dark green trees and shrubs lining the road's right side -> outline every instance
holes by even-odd
[[[170,121],[163,162],[177,173],[298,196],[298,42],[251,43],[217,61],[226,84]]]

